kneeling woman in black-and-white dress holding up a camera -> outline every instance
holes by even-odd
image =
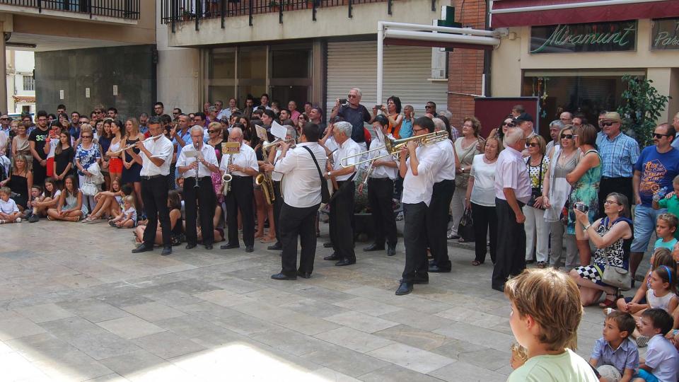
[[[603,272],[609,264],[629,269],[629,241],[632,239],[632,220],[629,219],[627,197],[611,192],[603,204],[605,217],[590,224],[589,217],[579,209],[576,216],[576,236],[578,240],[590,240],[596,247],[593,265],[576,267],[570,276],[580,286],[580,299],[583,306],[596,303],[605,292],[606,299],[599,306],[614,308],[617,288],[605,284]]]

